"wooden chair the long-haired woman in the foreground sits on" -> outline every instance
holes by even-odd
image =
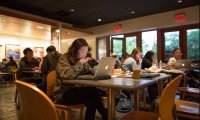
[[[47,95],[49,97],[53,94],[54,85],[56,83],[57,74],[56,71],[51,71],[47,75]],[[70,119],[70,111],[69,109],[80,109],[80,120],[82,119],[83,115],[83,108],[85,107],[84,104],[76,104],[76,105],[60,105],[55,104],[58,111],[64,111],[65,112],[65,119]]]

